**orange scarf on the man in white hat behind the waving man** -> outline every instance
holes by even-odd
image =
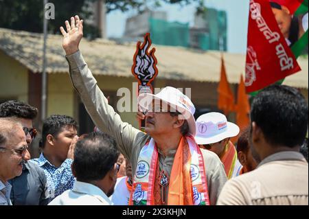
[[[225,152],[221,157],[221,161],[223,165],[225,165],[225,174],[227,174],[227,179],[230,179],[233,175],[233,170],[237,161],[237,151],[231,141],[229,141],[227,146],[225,146]]]

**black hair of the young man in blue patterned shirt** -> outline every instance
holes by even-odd
[[[78,129],[77,122],[68,115],[51,115],[45,119],[42,128],[42,139],[39,143],[40,148],[45,147],[47,135],[53,135],[56,137],[62,131],[62,128],[66,128],[68,126],[76,128],[76,130]]]

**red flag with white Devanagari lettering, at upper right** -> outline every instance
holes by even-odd
[[[269,1],[250,0],[247,37],[247,93],[301,70],[279,30]]]

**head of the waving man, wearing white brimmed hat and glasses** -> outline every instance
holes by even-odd
[[[140,94],[139,106],[146,119],[145,131],[154,139],[195,135],[194,104],[174,87],[165,87],[157,95]]]

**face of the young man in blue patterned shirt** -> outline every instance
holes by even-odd
[[[77,130],[73,126],[64,126],[56,137],[54,137],[54,152],[62,161],[67,159],[67,152],[73,138],[77,135]]]

